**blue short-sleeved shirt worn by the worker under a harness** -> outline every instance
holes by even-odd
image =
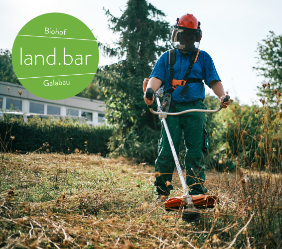
[[[150,78],[156,77],[162,80],[162,82],[164,83],[164,91],[167,91],[172,87],[169,86],[170,65],[168,64],[168,55],[169,51],[166,51],[159,57],[150,75]],[[173,74],[175,80],[183,80],[190,64],[190,55],[191,52],[186,52],[185,54],[183,54],[181,51],[176,50],[176,62],[173,66]],[[197,62],[194,63],[188,76],[188,79],[191,78],[204,79],[207,86],[209,86],[212,80],[221,81],[216,72],[213,60],[207,52],[202,50],[199,52]],[[175,103],[194,101],[197,99],[203,100],[205,98],[205,87],[203,83],[189,84],[188,91],[184,97],[180,95],[183,87],[184,86],[177,86],[177,88],[174,90],[172,99]]]

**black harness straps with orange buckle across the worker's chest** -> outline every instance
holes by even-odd
[[[168,55],[168,64],[170,65],[170,74],[169,74],[169,85],[172,86],[172,92],[177,88],[177,86],[184,86],[182,91],[180,92],[180,95],[181,96],[185,96],[185,94],[187,93],[188,91],[188,84],[191,84],[191,83],[200,83],[203,81],[203,79],[189,79],[187,80],[188,76],[189,76],[189,73],[194,65],[194,63],[196,63],[197,59],[198,59],[198,56],[199,56],[199,53],[200,53],[200,49],[197,49],[197,48],[194,48],[191,55],[190,55],[190,58],[189,58],[189,67],[184,75],[184,78],[183,80],[175,80],[174,79],[174,74],[173,74],[173,67],[174,67],[174,64],[176,62],[176,49],[170,49],[169,50],[169,55]]]

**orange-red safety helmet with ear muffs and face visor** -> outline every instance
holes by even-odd
[[[185,51],[191,51],[194,47],[198,48],[202,39],[200,25],[201,23],[193,14],[185,14],[177,18],[171,36],[173,48]]]

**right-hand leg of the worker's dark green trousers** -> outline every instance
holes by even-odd
[[[189,104],[188,109],[206,109],[202,101]],[[204,125],[206,124],[205,113],[192,112],[180,117],[180,124],[184,131],[184,142],[186,155],[184,159],[186,168],[186,184],[192,189],[191,195],[205,194],[207,189],[203,186],[205,182],[204,152]]]

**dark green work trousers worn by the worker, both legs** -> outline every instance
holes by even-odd
[[[190,109],[207,109],[202,100],[174,103],[174,105],[177,112]],[[169,112],[172,112],[171,106]],[[204,155],[209,148],[206,131],[206,114],[191,112],[178,116],[167,116],[165,120],[177,155],[179,155],[182,130],[184,131],[184,143],[186,146],[184,164],[186,169],[186,184],[190,189],[189,194],[205,194],[207,189],[203,186],[205,182]],[[162,124],[161,138],[158,142],[158,157],[155,161],[155,171],[161,173],[160,176],[156,177],[154,183],[158,194],[168,196],[170,190],[173,189],[172,184],[169,184],[172,180],[174,167],[175,162],[165,128]]]

